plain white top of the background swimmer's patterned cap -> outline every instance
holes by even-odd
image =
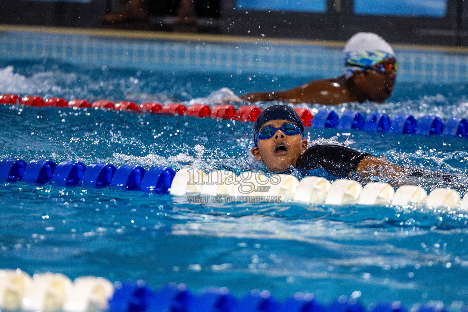
[[[359,53],[383,51],[388,54],[395,55],[390,44],[388,44],[388,42],[381,36],[372,32],[358,32],[357,34],[354,34],[354,36],[352,36],[344,46],[343,52],[346,54],[350,51],[357,51]]]

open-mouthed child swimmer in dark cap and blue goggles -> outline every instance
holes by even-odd
[[[304,125],[289,106],[275,105],[263,110],[254,124],[254,135],[255,147],[251,152],[272,172],[285,172],[290,166],[301,171],[324,169],[327,178],[347,178],[353,172],[375,175],[377,170],[391,176],[402,172],[400,166],[385,158],[344,146],[314,145],[307,148]]]

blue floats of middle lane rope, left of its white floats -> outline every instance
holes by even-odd
[[[59,186],[82,183],[101,188],[113,185],[128,190],[167,194],[176,172],[170,167],[123,165],[116,169],[110,163],[97,162],[86,167],[81,161],[66,160],[57,165],[52,160],[36,159],[28,164],[22,159],[0,161],[0,179],[44,184],[52,181]]]

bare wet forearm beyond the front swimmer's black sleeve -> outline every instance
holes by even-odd
[[[377,176],[382,179],[393,180],[402,178],[403,176],[402,167],[384,157],[367,156],[361,160],[356,171],[364,179]]]

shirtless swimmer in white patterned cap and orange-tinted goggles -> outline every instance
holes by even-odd
[[[279,100],[292,103],[337,105],[346,102],[385,102],[392,94],[396,59],[382,37],[359,32],[344,46],[345,74],[338,78],[314,80],[286,91],[242,95],[251,102]]]

